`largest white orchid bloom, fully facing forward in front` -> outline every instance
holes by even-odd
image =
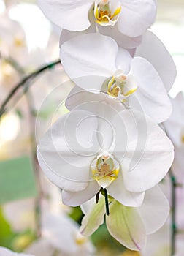
[[[37,158],[66,205],[80,205],[102,187],[123,205],[139,206],[169,170],[173,146],[149,117],[96,94],[50,127]]]

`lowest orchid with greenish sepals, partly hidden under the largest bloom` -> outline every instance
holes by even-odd
[[[80,232],[91,234],[104,223],[104,198],[95,203],[92,198],[82,205],[85,214]],[[139,251],[144,248],[146,236],[156,232],[169,215],[169,203],[161,189],[156,186],[145,192],[145,200],[138,208],[123,206],[109,199],[110,214],[106,215],[106,225],[110,234],[129,249]]]

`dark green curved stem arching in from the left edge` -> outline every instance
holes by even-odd
[[[60,60],[50,62],[49,64],[46,64],[45,66],[40,67],[36,71],[32,72],[30,75],[27,75],[25,78],[23,78],[23,80],[21,80],[20,83],[18,83],[12,89],[12,91],[9,92],[7,98],[4,99],[4,102],[2,103],[1,108],[0,108],[0,117],[6,112],[6,106],[9,102],[9,100],[12,99],[12,97],[15,95],[15,93],[18,91],[18,89],[20,89],[22,86],[24,86],[25,83],[28,82],[28,80],[30,80],[32,78],[36,78],[37,75],[41,74],[46,69],[52,69],[53,67],[55,67],[56,64],[60,64],[60,63],[61,63]],[[31,86],[31,85],[28,85],[28,86]]]

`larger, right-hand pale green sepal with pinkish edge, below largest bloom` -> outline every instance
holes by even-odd
[[[106,216],[106,225],[111,236],[123,246],[134,251],[145,246],[145,226],[136,208],[113,201],[110,204],[110,215]]]

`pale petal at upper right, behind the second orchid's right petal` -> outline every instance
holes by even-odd
[[[136,50],[136,56],[150,61],[161,77],[166,91],[169,91],[176,78],[176,66],[163,42],[153,32],[147,31],[145,33],[142,43]]]

